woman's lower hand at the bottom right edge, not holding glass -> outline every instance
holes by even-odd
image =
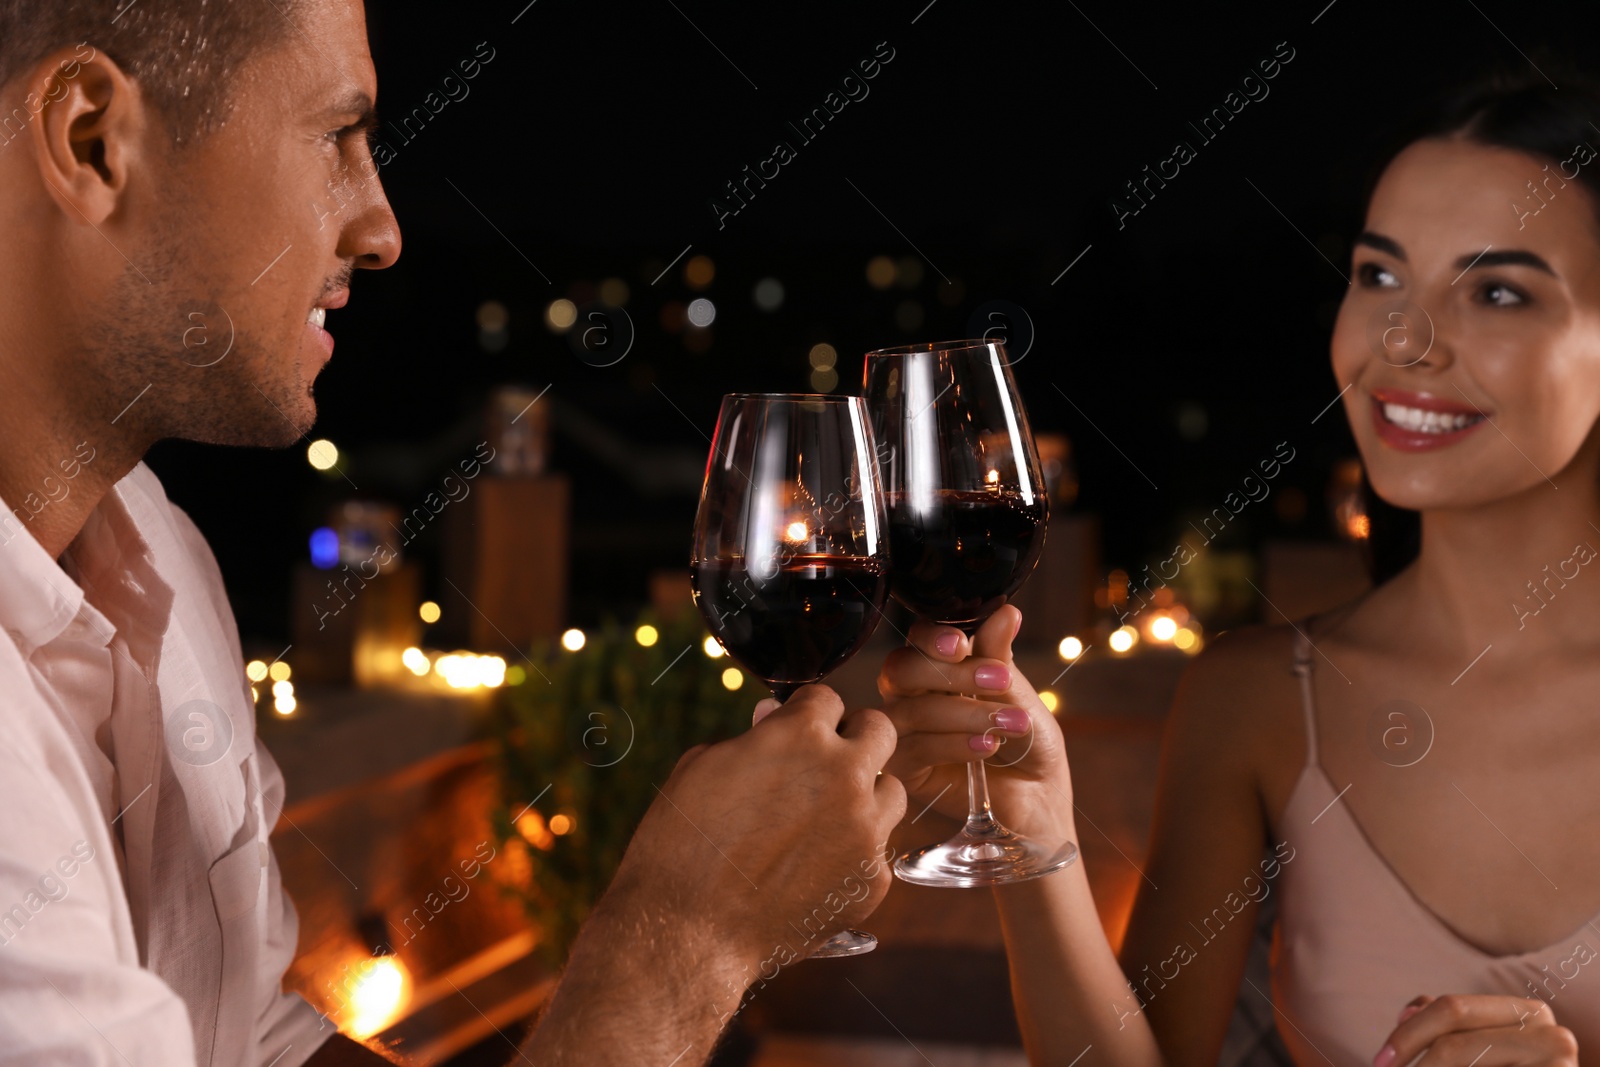
[[[1536,997],[1418,997],[1373,1057],[1373,1067],[1578,1067],[1578,1038]]]

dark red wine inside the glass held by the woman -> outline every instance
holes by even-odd
[[[925,619],[976,627],[1018,590],[1045,547],[1050,506],[1014,491],[944,490],[926,510],[890,506],[890,590]]]

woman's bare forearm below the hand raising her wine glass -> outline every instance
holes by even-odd
[[[1067,840],[1078,840],[1075,833]],[[1139,1001],[1106,939],[1083,857],[1058,873],[995,888],[1018,1025],[1035,1067],[1160,1067]]]

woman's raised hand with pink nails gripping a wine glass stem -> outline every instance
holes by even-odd
[[[918,622],[883,661],[878,694],[899,741],[885,773],[910,808],[966,816],[966,765],[987,758],[989,795],[1021,833],[1072,832],[1072,779],[1061,726],[1011,661],[1022,613],[1006,605],[968,640]]]

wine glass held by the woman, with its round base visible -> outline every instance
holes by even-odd
[[[883,453],[890,592],[971,637],[1014,593],[1045,547],[1050,501],[1005,346],[947,341],[867,354],[866,394]],[[966,825],[906,853],[917,885],[990,886],[1061,870],[1072,841],[1006,830],[989,809],[984,763],[966,765]]]

